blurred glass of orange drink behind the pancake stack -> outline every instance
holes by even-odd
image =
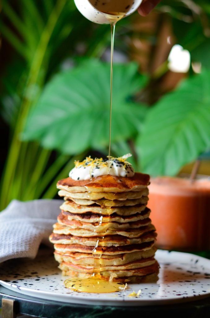
[[[148,207],[159,248],[210,250],[210,177],[152,178]]]

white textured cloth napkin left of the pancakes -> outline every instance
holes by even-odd
[[[0,263],[18,257],[35,258],[40,243],[48,244],[62,200],[13,200],[0,212]]]

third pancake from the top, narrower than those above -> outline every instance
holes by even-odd
[[[139,199],[133,199],[133,200],[106,200],[106,199],[99,199],[99,200],[87,200],[87,199],[75,199],[71,198],[72,201],[74,201],[76,204],[80,205],[91,205],[91,204],[99,204],[101,207],[107,206],[107,207],[113,207],[113,206],[132,206],[136,204],[146,204],[148,201],[148,196],[143,196]]]

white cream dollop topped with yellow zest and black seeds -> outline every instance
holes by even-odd
[[[110,174],[119,177],[134,176],[134,168],[126,161],[131,154],[108,159],[86,157],[82,162],[75,161],[75,167],[69,172],[69,177],[74,180],[90,180],[97,176]],[[108,169],[109,166],[109,169]]]

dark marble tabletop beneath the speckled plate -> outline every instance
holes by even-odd
[[[0,286],[0,307],[4,299],[14,301],[14,312],[35,315],[47,318],[103,318],[103,317],[158,317],[161,318],[209,318],[210,297],[180,304],[141,306],[141,307],[110,307],[74,305],[59,301],[40,300],[39,298],[25,296]],[[10,318],[3,310],[3,318]]]

